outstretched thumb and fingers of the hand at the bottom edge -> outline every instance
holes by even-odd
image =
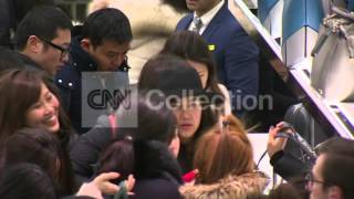
[[[116,179],[119,177],[118,172],[103,172],[100,176],[95,177],[90,184],[94,184],[105,195],[115,195],[119,187],[110,182],[110,180]]]

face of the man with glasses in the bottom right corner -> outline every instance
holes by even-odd
[[[320,155],[316,159],[315,165],[312,168],[313,181],[310,181],[308,185],[310,193],[310,199],[326,199],[327,191],[324,189],[323,177],[322,177],[322,167],[325,160],[324,155]]]

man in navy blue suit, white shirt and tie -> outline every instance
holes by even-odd
[[[209,45],[220,83],[231,94],[232,112],[238,116],[256,108],[259,69],[257,45],[228,10],[227,0],[186,0],[194,12],[183,18],[176,30],[198,32]]]

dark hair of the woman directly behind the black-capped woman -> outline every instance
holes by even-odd
[[[190,60],[206,64],[209,73],[206,88],[222,95],[218,86],[217,70],[212,54],[208,44],[198,33],[192,31],[174,33],[168,38],[160,53],[173,54],[186,61]]]

